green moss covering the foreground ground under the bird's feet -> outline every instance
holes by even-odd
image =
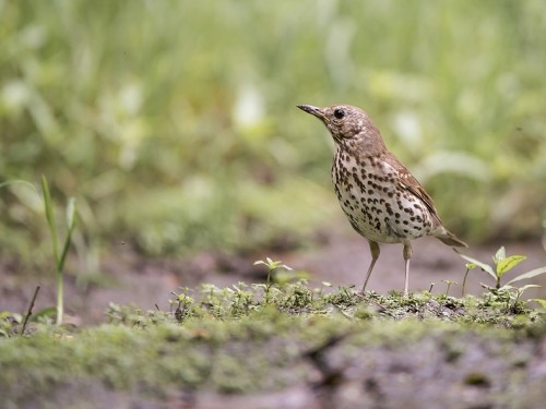
[[[523,359],[527,363],[532,356],[518,346],[546,337],[543,314],[514,315],[494,300],[485,306],[479,298],[428,292],[408,299],[359,297],[347,289],[324,294],[298,282],[273,286],[265,303],[262,287],[238,288],[246,291],[247,308],[239,308],[237,290],[209,288],[181,322],[170,312],[111,305],[110,323],[96,327],[34,324],[28,335],[0,341],[0,395],[21,404],[28,394],[74,382],[150,396],[180,388],[277,389],[311,382],[309,365],[330,371],[324,357],[332,351],[351,362],[363,351],[378,358],[417,351],[411,357],[428,348],[438,351],[441,364],[459,365],[472,348],[484,348],[524,369]],[[465,384],[480,382],[474,372],[462,377]]]

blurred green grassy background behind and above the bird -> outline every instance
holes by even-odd
[[[366,109],[466,241],[543,232],[544,2],[0,0],[0,182],[45,175],[59,214],[75,196],[80,250],[345,224],[297,104]],[[2,255],[50,254],[27,185],[0,190],[0,229]]]

